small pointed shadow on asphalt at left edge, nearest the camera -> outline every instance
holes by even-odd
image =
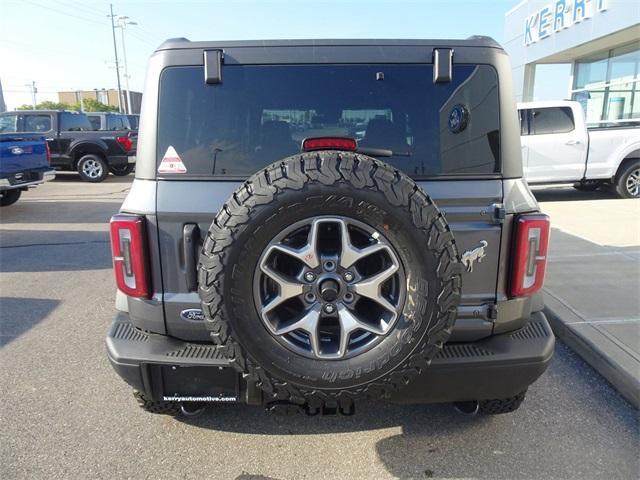
[[[0,347],[38,325],[59,304],[47,298],[0,297]]]

